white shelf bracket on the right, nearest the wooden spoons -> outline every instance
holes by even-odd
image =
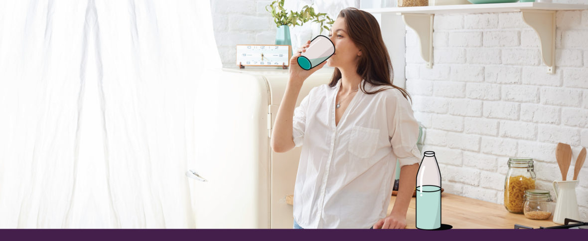
[[[541,58],[547,73],[555,73],[555,15],[552,10],[520,9],[523,21],[537,32],[541,43]]]

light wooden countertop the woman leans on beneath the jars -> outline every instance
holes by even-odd
[[[396,196],[390,199],[387,214],[392,212]],[[286,197],[292,204],[292,195]],[[416,198],[410,200],[406,213],[406,228],[415,229]],[[533,227],[557,226],[552,222],[553,215],[547,220],[532,220],[523,214],[510,213],[502,204],[490,203],[455,194],[441,194],[441,223],[452,225],[453,229],[514,229],[515,224]]]

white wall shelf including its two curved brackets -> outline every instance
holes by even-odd
[[[402,8],[362,9],[372,14],[402,15],[405,24],[414,29],[420,41],[420,55],[427,68],[433,67],[433,21],[435,14],[482,14],[521,12],[523,21],[532,27],[540,41],[541,57],[547,73],[555,73],[556,11],[585,10],[583,4],[553,4],[546,2],[513,2],[507,4],[463,4],[441,6],[411,6]]]

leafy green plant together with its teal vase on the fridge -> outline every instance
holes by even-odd
[[[278,0],[265,6],[265,9],[272,13],[273,22],[275,22],[276,27],[278,27],[278,30],[276,31],[276,45],[292,46],[289,27],[295,27],[296,25],[302,26],[302,24],[312,21],[320,24],[320,33],[322,33],[323,29],[329,31],[329,27],[326,25],[332,25],[335,22],[335,20],[331,19],[327,14],[315,12],[312,4],[310,6],[305,5],[300,12],[292,10],[288,12],[284,8],[284,0]],[[292,51],[294,51],[293,48]]]

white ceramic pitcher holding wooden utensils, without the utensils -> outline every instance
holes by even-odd
[[[556,187],[559,186],[559,191]],[[557,204],[555,212],[553,213],[553,222],[563,225],[563,220],[566,219],[580,219],[580,212],[578,209],[578,202],[576,200],[576,184],[574,181],[553,181],[553,190],[557,196]]]

